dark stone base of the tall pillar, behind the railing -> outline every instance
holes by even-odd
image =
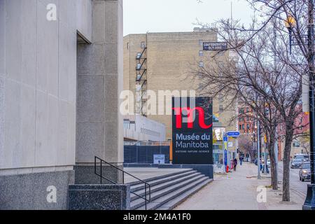
[[[120,169],[123,169],[123,166],[117,166]],[[100,174],[100,166],[97,165],[97,174]],[[94,172],[94,164],[93,165],[77,165],[74,167],[76,171],[76,184],[100,184],[101,178],[97,176]],[[123,183],[123,172],[115,169],[114,167],[109,167],[103,165],[102,167],[102,176],[114,181],[115,183]],[[102,184],[110,184],[109,181],[102,179]]]

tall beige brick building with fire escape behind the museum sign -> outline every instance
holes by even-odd
[[[166,137],[172,139],[172,116],[147,113],[147,92],[159,90],[196,90],[200,80],[189,73],[211,62],[215,52],[203,51],[204,42],[216,42],[214,31],[195,29],[191,32],[130,34],[124,37],[124,90],[134,94],[134,112],[166,125]],[[222,61],[225,52],[218,57]],[[197,96],[200,93],[197,92]],[[158,99],[157,99],[158,102]],[[226,130],[236,130],[229,124],[234,111],[223,111],[223,102],[214,99],[214,113]],[[233,109],[232,109],[233,110]]]

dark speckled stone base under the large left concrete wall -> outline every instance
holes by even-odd
[[[67,209],[68,187],[73,183],[73,170],[0,176],[0,210]],[[56,202],[50,197],[52,189]]]

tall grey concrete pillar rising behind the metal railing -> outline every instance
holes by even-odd
[[[92,43],[78,44],[76,183],[91,181],[95,155],[123,165],[121,90],[123,1],[92,1]],[[117,181],[119,176],[109,177]]]

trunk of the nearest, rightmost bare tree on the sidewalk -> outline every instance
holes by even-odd
[[[286,144],[283,151],[283,202],[290,202],[290,152],[293,141],[293,123],[286,125]]]

